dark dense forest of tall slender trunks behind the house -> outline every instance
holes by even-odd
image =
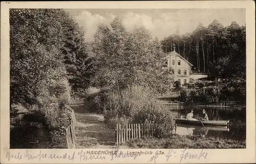
[[[218,20],[208,26],[199,23],[192,33],[174,34],[161,41],[163,51],[176,51],[194,65],[199,72],[212,76],[245,79],[246,73],[246,30],[233,21],[224,27]]]

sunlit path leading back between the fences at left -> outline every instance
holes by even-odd
[[[76,116],[76,148],[114,148],[115,129],[104,123],[104,117],[87,110],[85,105],[70,105]],[[121,148],[127,148],[122,146]]]

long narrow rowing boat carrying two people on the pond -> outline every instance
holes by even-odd
[[[204,126],[227,126],[227,124],[229,123],[229,120],[209,120],[209,121],[201,121],[200,120],[187,120],[185,118],[182,119],[176,119],[175,120],[176,123],[180,123],[180,124],[189,124],[189,125],[202,125],[202,123],[204,124]]]

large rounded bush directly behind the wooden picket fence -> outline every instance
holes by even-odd
[[[156,102],[150,90],[133,87],[121,92],[109,94],[109,101],[103,104],[104,120],[111,127],[117,123],[163,124],[173,120],[172,114]]]

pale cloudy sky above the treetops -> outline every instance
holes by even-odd
[[[245,9],[66,9],[92,41],[101,24],[110,24],[118,16],[128,31],[145,26],[154,37],[163,39],[177,29],[180,34],[193,32],[198,23],[208,26],[217,19],[224,26],[236,21],[245,24]]]

